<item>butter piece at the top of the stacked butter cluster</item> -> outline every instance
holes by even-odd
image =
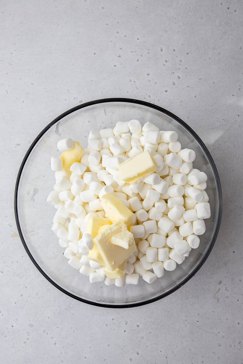
[[[106,216],[115,222],[122,219],[126,225],[131,224],[133,217],[132,211],[128,209],[118,198],[110,193],[106,193],[101,197],[101,206],[106,212]]]

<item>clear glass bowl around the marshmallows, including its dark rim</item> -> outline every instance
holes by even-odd
[[[51,230],[55,208],[46,198],[53,189],[54,172],[51,155],[59,155],[59,139],[70,137],[87,146],[91,129],[114,127],[122,120],[138,119],[142,124],[152,122],[160,130],[175,130],[182,148],[193,149],[196,159],[193,167],[208,176],[207,193],[211,218],[205,220],[206,232],[200,236],[200,245],[172,272],[148,284],[140,278],[138,285],[121,288],[106,286],[103,282],[90,284],[89,278],[67,264],[64,248]],[[171,112],[148,102],[112,98],[76,106],[54,119],[36,137],[27,151],[15,186],[15,217],[21,241],[36,268],[56,288],[79,301],[91,305],[123,308],[148,304],[168,296],[183,286],[201,268],[215,243],[222,215],[222,191],[213,159],[197,134]],[[202,282],[203,283],[203,282]]]

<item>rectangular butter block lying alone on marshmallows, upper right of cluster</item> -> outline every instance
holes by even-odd
[[[126,183],[138,183],[151,173],[156,171],[157,165],[149,150],[129,158],[127,161],[119,165],[119,174],[122,181]]]

